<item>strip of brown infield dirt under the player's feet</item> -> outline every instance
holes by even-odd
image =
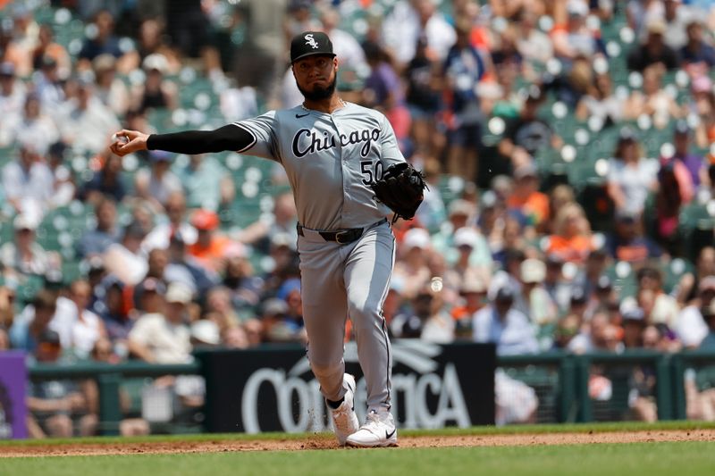
[[[531,445],[584,445],[591,443],[645,443],[660,441],[715,441],[715,430],[644,430],[587,433],[533,433],[514,435],[460,435],[401,437],[400,447],[506,447]],[[340,449],[330,435],[298,439],[149,441],[141,443],[68,443],[0,447],[0,457],[86,456],[220,453],[234,451],[295,451]],[[347,449],[344,449],[347,450]]]

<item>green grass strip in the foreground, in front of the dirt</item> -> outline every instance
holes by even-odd
[[[710,475],[711,443],[632,443],[568,447],[392,448],[219,453],[12,458],[0,460],[0,474],[22,476],[101,474],[627,474]]]

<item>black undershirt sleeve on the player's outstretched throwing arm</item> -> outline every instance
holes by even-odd
[[[215,130],[185,130],[172,134],[152,134],[147,149],[165,150],[177,154],[205,154],[207,152],[240,151],[254,142],[248,130],[228,124]]]

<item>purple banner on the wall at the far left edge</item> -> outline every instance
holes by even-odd
[[[21,352],[0,352],[0,439],[27,438],[25,388],[28,372]]]

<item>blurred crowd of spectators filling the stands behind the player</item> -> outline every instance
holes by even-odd
[[[259,190],[270,209],[240,228],[224,211],[240,213],[243,184],[219,157],[107,146],[122,127],[166,131],[157,113],[211,128],[299,104],[287,45],[306,29],[331,36],[341,95],[386,114],[430,185],[416,219],[394,226],[393,338],[495,342],[502,355],[715,349],[715,236],[694,242],[680,223],[690,204],[715,214],[711,1],[0,4],[0,350],[186,363],[200,347],[305,343],[280,170]],[[77,41],[55,39],[78,21]],[[685,94],[666,84],[674,74]],[[217,116],[193,121],[199,98],[181,104],[193,78]],[[615,135],[596,195],[543,167],[573,139],[546,118],[557,106],[594,138]],[[655,156],[649,129],[664,138]],[[94,226],[71,230],[68,258],[38,229],[78,202]],[[70,261],[81,273],[68,282]],[[31,280],[38,291],[19,299]],[[90,400],[75,390],[64,406]]]

